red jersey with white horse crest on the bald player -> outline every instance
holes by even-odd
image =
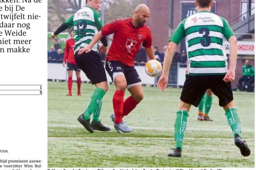
[[[133,60],[140,45],[148,48],[152,45],[152,35],[148,26],[135,28],[132,18],[117,19],[105,25],[101,32],[103,35],[114,33],[112,44],[109,48],[106,60],[120,61],[133,66]]]

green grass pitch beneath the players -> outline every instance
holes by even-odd
[[[110,121],[113,85],[103,98],[102,123],[110,132],[87,132],[76,120],[83,113],[94,86],[82,84],[82,96],[66,97],[67,84],[48,83],[48,167],[254,167],[254,93],[234,92],[242,122],[242,136],[251,148],[243,157],[234,145],[225,112],[214,96],[209,116],[213,122],[199,122],[191,107],[181,158],[167,156],[174,147],[174,121],[180,88],[161,92],[143,87],[143,101],[124,118],[131,133],[117,133]],[[126,91],[125,97],[129,96]]]

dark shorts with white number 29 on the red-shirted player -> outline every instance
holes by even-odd
[[[112,82],[114,82],[114,78],[117,75],[124,75],[127,82],[127,88],[141,84],[140,76],[138,75],[134,66],[131,67],[124,65],[119,61],[106,61],[105,68],[109,73]]]

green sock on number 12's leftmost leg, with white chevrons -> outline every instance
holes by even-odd
[[[91,114],[95,113],[98,109],[99,102],[101,102],[101,99],[105,95],[105,91],[102,88],[95,88],[93,93],[91,94],[88,106],[86,110],[83,113],[83,117],[85,120],[88,120],[91,117]]]

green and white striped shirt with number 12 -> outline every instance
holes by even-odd
[[[102,20],[99,12],[88,6],[73,14],[65,24],[68,28],[74,26],[74,53],[80,48],[89,45],[95,34],[102,29]],[[91,50],[97,52],[98,48],[98,44],[95,44]]]

